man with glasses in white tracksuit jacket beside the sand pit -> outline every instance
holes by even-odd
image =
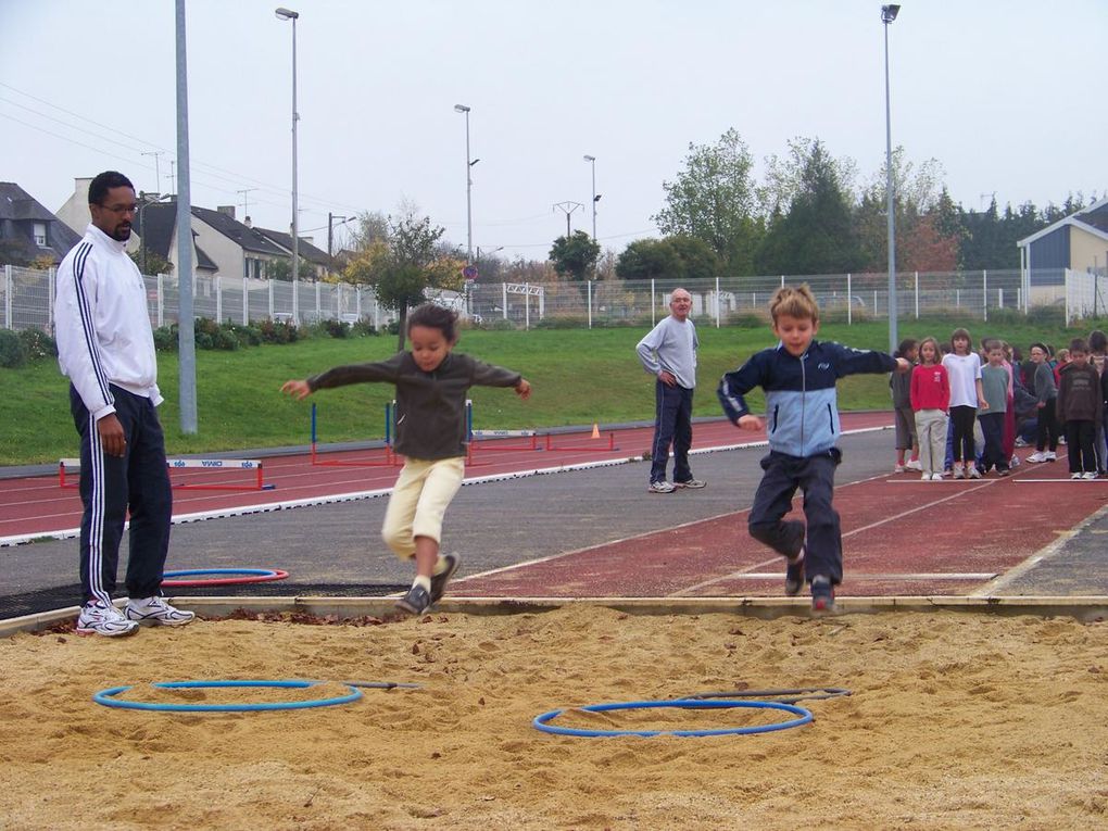
[[[130,635],[141,624],[193,619],[161,597],[173,495],[157,420],[154,336],[146,286],[126,254],[134,186],[107,171],[89,186],[92,223],[58,267],[58,365],[70,379],[70,410],[81,439],[79,635]],[[131,514],[126,588],[112,604],[120,541]]]

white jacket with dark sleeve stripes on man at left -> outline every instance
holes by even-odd
[[[99,421],[115,412],[110,383],[162,403],[146,285],[126,243],[90,224],[58,266],[58,366]]]

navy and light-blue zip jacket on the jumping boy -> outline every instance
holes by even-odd
[[[794,456],[825,453],[841,432],[835,383],[859,372],[892,372],[896,359],[885,352],[851,349],[813,340],[799,358],[781,345],[756,352],[719,382],[719,402],[732,422],[750,413],[742,398],[755,387],[766,391],[766,430],[770,450]]]

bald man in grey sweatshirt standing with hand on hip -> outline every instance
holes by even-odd
[[[689,470],[693,445],[693,390],[696,388],[696,350],[700,341],[689,320],[693,296],[684,288],[669,296],[669,316],[638,341],[636,352],[655,382],[654,442],[650,445],[649,493],[673,493],[678,488],[704,488]],[[669,445],[674,445],[674,481],[666,481]]]

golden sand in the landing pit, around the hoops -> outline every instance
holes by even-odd
[[[1108,824],[1108,624],[971,613],[811,620],[433,615],[383,625],[235,619],[120,640],[0,640],[4,829],[1088,829]],[[322,709],[161,714],[151,681],[418,683]],[[707,690],[847,687],[759,736],[587,739],[558,707]],[[601,729],[774,720],[741,710],[583,714]]]

